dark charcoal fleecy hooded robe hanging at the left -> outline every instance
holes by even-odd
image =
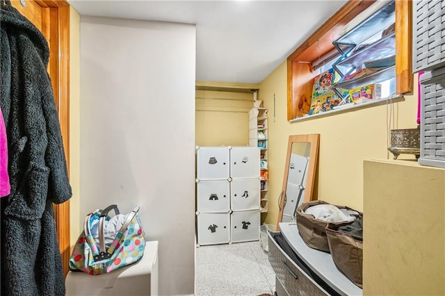
[[[72,192],[47,73],[49,47],[6,0],[0,21],[10,178],[10,195],[0,199],[1,295],[65,295],[53,203]]]

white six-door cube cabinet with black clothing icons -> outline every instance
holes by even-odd
[[[196,147],[196,150],[197,245],[258,240],[259,148]],[[242,222],[248,229],[238,225]]]

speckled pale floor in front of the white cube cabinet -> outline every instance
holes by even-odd
[[[196,249],[196,296],[258,296],[275,292],[275,272],[259,241]]]

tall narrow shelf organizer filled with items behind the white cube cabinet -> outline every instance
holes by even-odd
[[[249,146],[260,149],[261,213],[268,211],[268,116],[267,108],[254,107],[249,112]]]

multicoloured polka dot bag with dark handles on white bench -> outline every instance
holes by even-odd
[[[111,210],[115,211],[115,217],[121,218],[122,227],[114,239],[108,237],[108,241],[112,242],[106,245],[104,225],[111,220],[108,215]],[[139,261],[144,254],[145,233],[138,211],[139,206],[136,206],[128,215],[119,215],[118,206],[113,204],[103,211],[88,214],[70,257],[70,270],[92,275],[104,274]],[[120,225],[115,221],[111,224]]]

